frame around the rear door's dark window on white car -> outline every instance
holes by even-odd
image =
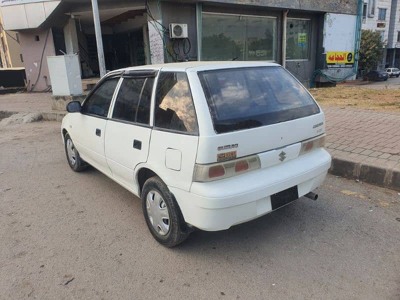
[[[145,127],[145,128],[152,128],[152,118],[151,118],[151,112],[152,112],[152,107],[153,107],[153,102],[154,102],[154,94],[155,94],[155,87],[156,87],[156,82],[157,82],[157,78],[158,78],[158,74],[159,74],[159,70],[158,69],[140,69],[140,70],[126,70],[124,72],[121,73],[119,82],[115,88],[115,93],[112,97],[112,105],[110,106],[109,109],[109,115],[108,115],[108,120],[110,121],[114,121],[114,122],[118,122],[118,123],[123,123],[123,124],[129,124],[129,125],[135,125],[135,126],[140,126],[140,127]],[[119,89],[122,85],[122,82],[125,78],[145,78],[146,80],[144,81],[144,84],[141,88],[140,91],[140,98],[143,92],[143,88],[144,85],[147,82],[147,78],[154,78],[154,82],[153,82],[153,86],[151,87],[151,96],[150,96],[150,107],[149,107],[149,119],[148,119],[148,124],[143,124],[143,123],[137,123],[135,121],[126,121],[126,120],[121,120],[121,119],[117,119],[117,118],[113,118],[112,114],[114,113],[114,107],[115,107],[115,101],[116,98],[118,96],[119,93]],[[139,98],[139,102],[137,104],[140,103],[140,98]],[[135,115],[135,119],[137,117],[137,109],[136,109],[136,115]]]

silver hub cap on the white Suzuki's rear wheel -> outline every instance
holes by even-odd
[[[146,209],[148,219],[155,231],[165,235],[169,230],[168,209],[162,196],[155,190],[151,190],[146,196]]]

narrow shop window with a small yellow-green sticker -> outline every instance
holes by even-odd
[[[308,59],[311,20],[292,19],[286,21],[286,59]]]

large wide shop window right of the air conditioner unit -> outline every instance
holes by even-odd
[[[202,60],[275,60],[276,18],[202,13]]]

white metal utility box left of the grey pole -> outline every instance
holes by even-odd
[[[82,93],[78,55],[47,56],[47,65],[54,96]]]

